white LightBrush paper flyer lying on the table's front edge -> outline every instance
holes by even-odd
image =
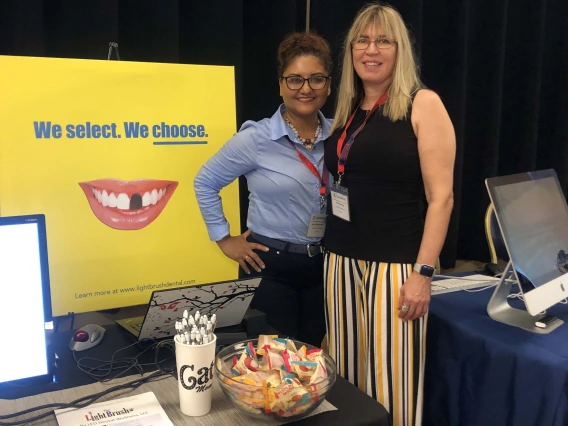
[[[173,426],[153,392],[55,410],[59,426]]]

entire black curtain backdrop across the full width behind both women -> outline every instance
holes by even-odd
[[[311,29],[340,46],[361,0],[311,0]],[[455,207],[441,256],[489,260],[487,177],[554,168],[568,187],[565,0],[392,0],[407,22],[425,84],[457,136]],[[0,54],[234,65],[237,128],[281,102],[278,42],[305,28],[306,0],[5,0]],[[334,93],[325,106],[333,113]],[[241,180],[241,226],[248,206]],[[233,224],[232,233],[238,232]]]

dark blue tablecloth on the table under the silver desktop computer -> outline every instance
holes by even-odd
[[[492,293],[432,297],[424,426],[568,425],[568,306],[538,335],[491,319]]]

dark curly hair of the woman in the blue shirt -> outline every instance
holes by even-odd
[[[290,62],[298,56],[315,56],[323,64],[328,75],[333,62],[329,43],[314,33],[292,33],[278,46],[278,77],[281,77]]]

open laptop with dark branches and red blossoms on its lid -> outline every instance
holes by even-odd
[[[138,340],[165,339],[176,334],[175,323],[199,311],[217,318],[216,328],[240,325],[262,278],[222,281],[152,292],[146,315],[116,323]]]

